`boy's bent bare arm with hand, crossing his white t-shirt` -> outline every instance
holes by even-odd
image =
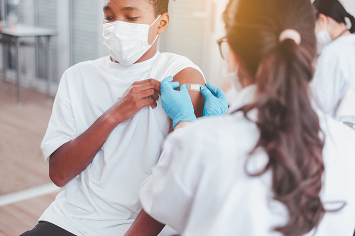
[[[122,98],[100,116],[84,133],[58,148],[49,159],[49,176],[62,187],[92,162],[111,132],[146,106],[157,106],[160,82],[134,82]],[[152,97],[152,99],[146,99]]]

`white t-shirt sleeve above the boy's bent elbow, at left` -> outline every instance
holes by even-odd
[[[64,73],[60,80],[58,93],[54,100],[52,116],[41,144],[46,162],[49,162],[49,157],[52,153],[77,136],[66,76],[66,73]]]

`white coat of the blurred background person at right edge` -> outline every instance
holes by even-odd
[[[355,34],[341,36],[325,46],[311,87],[321,109],[335,118],[343,96],[355,88]]]

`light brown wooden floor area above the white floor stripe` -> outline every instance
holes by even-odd
[[[14,84],[0,80],[0,195],[50,181],[41,141],[53,105],[34,89],[23,88],[22,95],[19,108]]]

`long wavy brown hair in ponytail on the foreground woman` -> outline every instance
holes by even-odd
[[[303,235],[325,213],[319,197],[324,138],[308,86],[316,57],[314,10],[309,0],[230,0],[224,21],[242,72],[257,86],[255,103],[242,109],[245,117],[258,111],[260,139],[253,152],[262,148],[269,157],[261,172],[248,174],[272,171],[274,199],[289,211],[289,222],[274,230]],[[301,44],[280,42],[285,29],[297,30]]]

